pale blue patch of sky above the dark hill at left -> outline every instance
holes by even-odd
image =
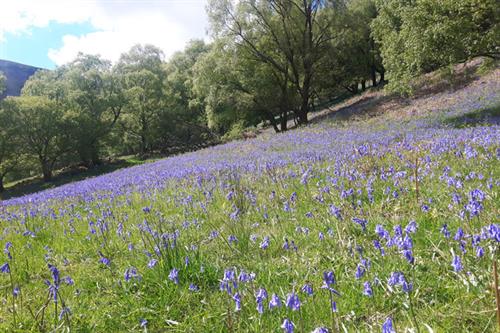
[[[49,58],[49,49],[63,46],[64,35],[83,36],[96,29],[90,24],[61,24],[51,22],[44,28],[32,28],[30,33],[6,33],[0,43],[0,59],[11,60],[31,66],[53,69],[56,64]]]

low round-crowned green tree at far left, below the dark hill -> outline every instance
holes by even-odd
[[[63,121],[63,109],[44,96],[7,97],[4,113],[15,124],[17,152],[38,160],[43,179],[49,181],[57,161],[69,149],[68,131]]]

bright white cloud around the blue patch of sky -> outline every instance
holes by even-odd
[[[2,3],[0,43],[5,33],[29,33],[51,22],[90,22],[96,31],[66,35],[49,58],[61,65],[78,52],[100,54],[116,61],[134,44],[154,44],[167,56],[182,50],[193,38],[203,38],[207,27],[206,0],[15,0]]]

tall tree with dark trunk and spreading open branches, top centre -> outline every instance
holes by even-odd
[[[254,60],[279,72],[293,85],[300,124],[308,121],[317,64],[325,56],[335,7],[320,0],[212,0],[208,13],[215,38],[228,37]]]

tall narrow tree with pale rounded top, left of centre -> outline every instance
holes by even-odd
[[[163,57],[163,52],[155,46],[136,45],[122,54],[116,65],[126,99],[121,124],[141,154],[152,150],[165,110]]]

